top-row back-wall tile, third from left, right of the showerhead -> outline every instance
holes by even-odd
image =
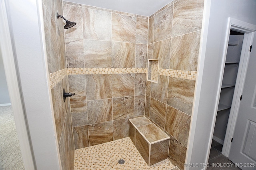
[[[112,13],[112,41],[136,42],[136,17]]]

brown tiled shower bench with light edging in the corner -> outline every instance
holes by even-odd
[[[168,158],[170,137],[146,117],[129,120],[129,137],[149,166]]]

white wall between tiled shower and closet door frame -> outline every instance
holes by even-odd
[[[198,80],[187,163],[206,163],[218,92],[228,17],[256,25],[255,0],[205,0]],[[253,55],[253,54],[251,54]],[[187,168],[190,170],[204,167]]]

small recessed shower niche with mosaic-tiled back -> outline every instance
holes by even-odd
[[[148,78],[150,82],[158,83],[159,59],[148,59]]]

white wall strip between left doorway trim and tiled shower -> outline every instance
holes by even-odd
[[[41,0],[6,0],[36,169],[60,169],[40,17]],[[41,16],[39,16],[39,14]]]

